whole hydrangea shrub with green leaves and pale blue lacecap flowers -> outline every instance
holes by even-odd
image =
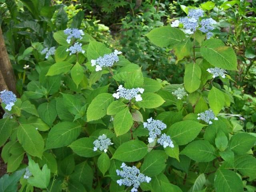
[[[55,32],[59,46],[42,50],[46,60],[36,64],[38,78],[24,94],[0,92],[7,110],[1,157],[7,172],[15,172],[0,186],[7,189],[10,178],[23,191],[252,189],[246,182],[256,179],[256,137],[224,113],[233,98],[223,84],[237,61],[214,38],[216,23],[190,9],[146,35],[174,50],[185,68],[180,85],[145,76],[122,52],[80,29]]]

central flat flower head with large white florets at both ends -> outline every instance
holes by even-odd
[[[113,93],[114,98],[125,98],[127,100],[131,100],[132,98],[135,98],[136,101],[142,101],[142,97],[139,92],[142,94],[144,92],[143,88],[132,88],[132,89],[126,89],[122,85],[118,87],[116,90],[116,93]]]

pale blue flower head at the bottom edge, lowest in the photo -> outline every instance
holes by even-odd
[[[125,163],[122,163],[122,166],[120,166],[123,170],[116,170],[116,174],[118,176],[121,176],[122,179],[117,180],[116,182],[121,186],[133,186],[131,192],[137,192],[138,188],[140,186],[140,183],[147,182],[149,183],[151,181],[151,178],[148,176],[145,176],[144,174],[140,173],[140,170],[136,168],[136,166],[127,166]]]

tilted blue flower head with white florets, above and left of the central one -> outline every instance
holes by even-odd
[[[114,50],[114,52],[110,54],[104,54],[104,56],[100,56],[96,60],[92,59],[92,66],[96,66],[96,71],[102,70],[102,67],[112,67],[114,63],[119,61],[118,55],[121,54],[121,51]]]

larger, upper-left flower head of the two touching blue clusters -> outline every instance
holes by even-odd
[[[166,129],[166,124],[160,120],[154,120],[151,118],[147,119],[147,122],[143,123],[144,128],[147,128],[149,131],[148,142],[152,143],[154,139],[161,134],[161,131]]]

